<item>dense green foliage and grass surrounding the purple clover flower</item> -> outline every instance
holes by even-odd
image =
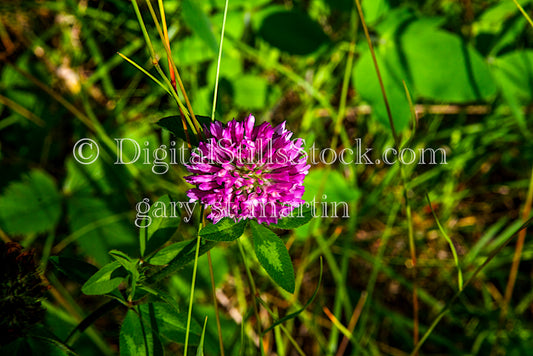
[[[164,1],[201,124],[224,4]],[[215,119],[286,120],[310,153],[311,206],[266,226],[189,202],[179,148],[201,137],[131,1],[0,2],[0,236],[34,248],[49,285],[44,319],[0,354],[218,355],[219,333],[226,355],[531,352],[533,23],[517,4],[363,0],[385,100],[355,1],[230,0]],[[402,148],[412,162],[388,164]]]

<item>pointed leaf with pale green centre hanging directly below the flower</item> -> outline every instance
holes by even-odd
[[[280,287],[294,293],[294,268],[283,241],[266,227],[251,222],[255,255]]]

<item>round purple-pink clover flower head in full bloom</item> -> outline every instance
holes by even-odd
[[[192,173],[185,180],[196,185],[187,196],[210,206],[207,217],[215,224],[225,217],[277,223],[304,202],[302,183],[310,166],[303,141],[291,140],[285,122],[254,123],[251,114],[242,122],[213,122],[185,165]]]

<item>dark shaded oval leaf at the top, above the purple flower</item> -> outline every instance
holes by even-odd
[[[306,13],[276,11],[263,19],[259,36],[290,54],[307,55],[329,42],[319,23]]]

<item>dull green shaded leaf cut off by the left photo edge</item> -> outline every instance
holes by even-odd
[[[61,200],[54,179],[33,170],[0,196],[0,226],[13,235],[51,230],[61,216]]]

